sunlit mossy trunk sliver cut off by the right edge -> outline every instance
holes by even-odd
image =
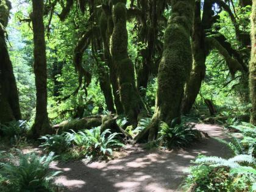
[[[252,4],[252,15],[251,15],[251,39],[252,39],[252,49],[251,49],[251,62],[249,64],[249,87],[251,91],[251,123],[256,125],[256,1]]]

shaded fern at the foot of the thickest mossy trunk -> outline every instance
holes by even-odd
[[[194,124],[180,124],[171,128],[162,122],[158,134],[159,145],[167,149],[181,148],[201,138],[201,133],[194,129]]]

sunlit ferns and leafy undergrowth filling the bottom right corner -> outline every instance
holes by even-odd
[[[190,168],[183,191],[255,191],[255,158],[252,155],[199,156]]]

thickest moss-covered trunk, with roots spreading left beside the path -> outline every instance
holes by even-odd
[[[194,1],[172,0],[171,16],[165,30],[163,56],[158,69],[158,89],[151,126],[141,132],[136,141],[149,133],[148,140],[157,137],[160,121],[171,126],[179,121],[184,85],[193,62],[190,37],[193,28]]]

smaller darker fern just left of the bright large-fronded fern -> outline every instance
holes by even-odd
[[[61,154],[68,150],[73,138],[67,133],[62,133],[61,135],[45,135],[40,137],[40,140],[44,140],[40,145],[44,148],[44,151]]]

